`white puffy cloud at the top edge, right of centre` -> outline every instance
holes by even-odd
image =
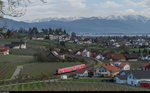
[[[106,1],[104,3],[100,3],[101,8],[120,8],[123,7],[122,4],[113,2],[113,1]]]

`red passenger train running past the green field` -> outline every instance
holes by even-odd
[[[72,66],[72,67],[60,68],[56,70],[56,74],[67,73],[67,72],[75,71],[75,70],[82,69],[82,68],[86,68],[86,65],[81,64],[81,65]]]

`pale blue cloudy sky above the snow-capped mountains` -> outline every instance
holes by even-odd
[[[6,18],[32,21],[43,18],[107,17],[142,15],[150,17],[150,0],[31,0],[22,17]]]

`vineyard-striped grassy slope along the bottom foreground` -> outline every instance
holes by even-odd
[[[150,91],[150,89],[102,82],[39,82],[3,87],[0,91]]]

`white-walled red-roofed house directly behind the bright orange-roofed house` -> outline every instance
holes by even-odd
[[[109,64],[118,67],[120,70],[130,70],[128,62],[110,62]]]

